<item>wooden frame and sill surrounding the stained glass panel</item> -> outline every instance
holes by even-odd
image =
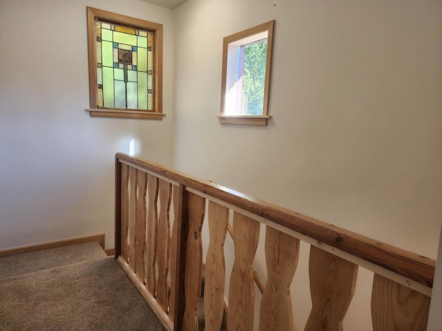
[[[132,119],[162,119],[162,71],[163,71],[163,25],[135,19],[114,12],[86,7],[88,20],[88,61],[89,61],[89,101],[90,108],[86,109],[91,117],[119,117]],[[95,58],[95,19],[110,21],[125,26],[133,26],[153,32],[153,111],[134,110],[126,108],[97,107],[97,69]]]

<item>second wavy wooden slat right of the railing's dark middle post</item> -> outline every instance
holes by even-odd
[[[209,248],[204,283],[205,331],[219,331],[224,313],[224,241],[229,225],[229,209],[209,201]]]

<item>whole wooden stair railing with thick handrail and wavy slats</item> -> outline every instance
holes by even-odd
[[[198,330],[203,240],[209,241],[205,330],[220,330],[226,277],[227,330],[253,330],[260,223],[266,225],[267,281],[259,330],[293,330],[290,285],[300,241],[311,245],[305,330],[343,330],[359,267],[374,272],[375,331],[426,330],[434,260],[126,154],[117,154],[115,165],[115,258],[166,330]],[[202,238],[206,201],[209,238]],[[226,275],[231,210],[235,259]]]

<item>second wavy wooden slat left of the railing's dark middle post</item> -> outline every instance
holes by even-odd
[[[171,242],[171,223],[169,210],[171,209],[172,184],[160,179],[158,195],[160,197],[160,217],[158,218],[158,239],[157,239],[157,302],[165,312],[169,308],[169,289],[167,288],[167,277],[169,273],[169,247]]]

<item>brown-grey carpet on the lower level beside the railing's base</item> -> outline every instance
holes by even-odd
[[[65,255],[61,263],[66,259],[72,261]],[[0,261],[0,268],[8,263]],[[2,331],[164,330],[113,257],[28,273],[24,264],[21,274],[0,281]]]

